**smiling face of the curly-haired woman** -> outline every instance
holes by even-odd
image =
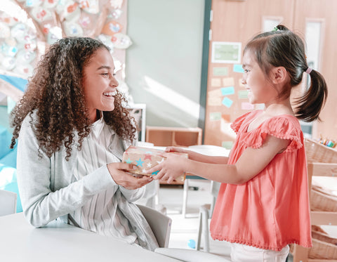
[[[114,61],[110,52],[100,48],[90,58],[83,69],[84,98],[89,116],[93,122],[97,120],[96,110],[114,110],[114,96],[118,81],[114,74]]]

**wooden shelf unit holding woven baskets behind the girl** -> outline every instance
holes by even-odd
[[[306,249],[296,244],[292,245],[293,262],[337,261],[337,239],[325,234],[324,230],[318,226],[337,225],[337,196],[329,195],[329,192],[324,192],[324,190],[317,192],[315,187],[312,187],[312,178],[337,176],[337,150],[317,141],[305,139],[305,152],[308,160],[308,186],[313,229],[312,248]]]

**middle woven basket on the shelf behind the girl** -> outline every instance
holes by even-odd
[[[337,197],[335,195],[329,194],[327,190],[324,190],[318,185],[312,185],[310,209],[312,211],[336,212]]]

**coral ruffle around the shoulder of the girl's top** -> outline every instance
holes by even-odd
[[[267,119],[258,129],[242,133],[242,142],[249,148],[260,148],[267,135],[291,140],[285,151],[303,147],[302,131],[296,117],[279,116]]]

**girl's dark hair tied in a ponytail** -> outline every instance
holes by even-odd
[[[266,76],[269,76],[272,67],[284,67],[289,73],[290,83],[284,86],[280,97],[289,97],[291,89],[300,84],[303,72],[308,70],[304,41],[284,25],[277,25],[271,32],[258,34],[246,45],[244,51],[247,50],[255,55]],[[305,122],[319,119],[319,112],[328,95],[322,74],[312,70],[310,78],[309,89],[302,97],[296,99],[296,117]]]

